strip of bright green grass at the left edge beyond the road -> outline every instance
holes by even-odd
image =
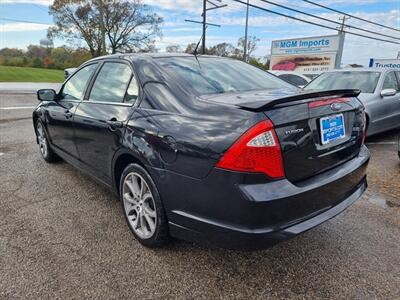
[[[0,66],[0,82],[63,82],[64,71]]]

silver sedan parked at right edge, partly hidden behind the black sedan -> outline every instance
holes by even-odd
[[[357,68],[326,72],[305,90],[360,89],[367,114],[367,135],[400,127],[400,70]]]

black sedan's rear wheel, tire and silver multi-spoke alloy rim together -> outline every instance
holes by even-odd
[[[166,245],[168,222],[149,173],[138,164],[129,164],[122,172],[119,190],[122,212],[135,238],[150,248]]]

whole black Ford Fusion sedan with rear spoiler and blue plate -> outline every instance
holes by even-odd
[[[259,249],[367,187],[354,90],[299,93],[241,61],[126,54],[83,64],[33,112],[40,153],[112,188],[144,245]]]

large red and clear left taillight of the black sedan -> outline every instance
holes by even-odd
[[[281,147],[271,121],[262,121],[244,133],[222,156],[217,167],[285,176]]]

